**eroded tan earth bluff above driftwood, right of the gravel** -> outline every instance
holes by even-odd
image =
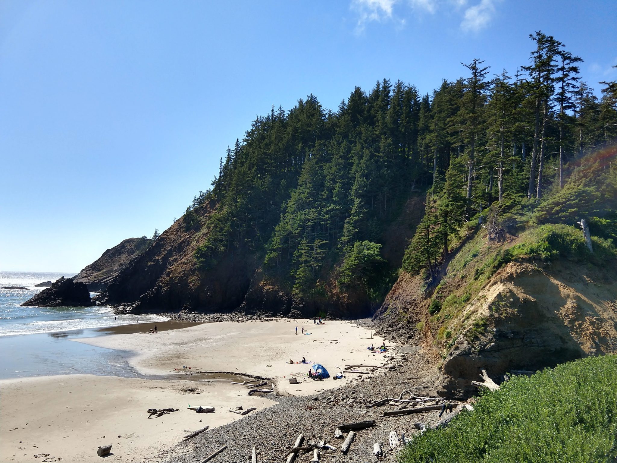
[[[471,381],[482,369],[499,382],[515,370],[617,352],[612,265],[511,262],[460,311],[446,314],[429,314],[432,294],[422,278],[402,273],[376,316],[390,332],[418,332],[439,359],[439,388],[449,396],[477,391]]]

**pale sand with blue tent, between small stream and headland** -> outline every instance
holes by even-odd
[[[304,322],[304,323],[302,323]],[[296,335],[296,326],[298,334]],[[304,334],[302,334],[304,327]],[[110,349],[135,352],[129,363],[144,375],[160,375],[191,367],[195,371],[236,372],[273,380],[278,393],[309,395],[335,388],[342,380],[313,381],[310,365],[320,363],[331,375],[344,365],[383,363],[384,354],[366,349],[383,339],[352,322],[331,321],[314,325],[312,320],[268,319],[248,322],[203,323],[162,333],[133,333],[75,340]],[[304,357],[307,364],[299,362]],[[297,385],[289,383],[296,377]]]

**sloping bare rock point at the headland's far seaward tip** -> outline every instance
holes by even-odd
[[[107,285],[131,259],[146,251],[152,243],[154,241],[149,238],[127,238],[103,252],[101,257],[75,275],[73,281],[86,283],[88,291],[99,293],[107,288]]]

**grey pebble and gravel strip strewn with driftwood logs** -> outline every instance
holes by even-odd
[[[362,322],[370,323],[370,320]],[[277,402],[275,406],[251,412],[225,426],[207,430],[146,461],[200,463],[226,445],[225,451],[215,456],[212,462],[250,462],[253,447],[257,450],[258,462],[283,462],[284,454],[302,433],[305,443],[319,439],[336,447],[336,451],[321,451],[322,462],[394,462],[401,445],[397,448],[389,446],[390,432],[397,432],[400,440],[402,435],[413,439],[419,432],[413,423],[434,425],[438,421],[439,411],[383,417],[386,410],[413,404],[386,404],[373,408],[367,408],[366,405],[387,397],[399,398],[401,393],[404,393],[405,399],[410,394],[437,397],[438,375],[434,362],[423,354],[420,346],[399,344],[387,360],[388,365],[393,365],[392,369],[365,368],[365,371],[370,372],[368,375],[346,373],[347,377],[354,378],[351,383],[321,391],[315,396],[268,394],[268,398]],[[332,380],[329,378],[325,381]],[[241,398],[238,399],[238,405],[241,406]],[[349,452],[342,454],[341,444],[347,432],[343,433],[342,438],[335,438],[337,425],[363,420],[375,420],[375,426],[357,431]],[[373,454],[375,443],[381,443],[382,457]],[[312,451],[302,452],[295,461],[309,462],[312,458]]]

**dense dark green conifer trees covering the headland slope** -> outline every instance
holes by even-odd
[[[474,59],[432,94],[384,79],[368,93],[355,88],[336,112],[310,95],[258,117],[187,209],[187,223],[193,209],[216,209],[199,269],[250,251],[265,278],[295,294],[359,288],[379,302],[399,264],[384,259],[384,231],[413,194],[431,186],[434,207],[404,266],[431,274],[491,204],[500,214],[536,207],[587,152],[615,140],[617,85],[603,83],[598,99],[580,57],[541,32],[531,44],[513,75]]]

